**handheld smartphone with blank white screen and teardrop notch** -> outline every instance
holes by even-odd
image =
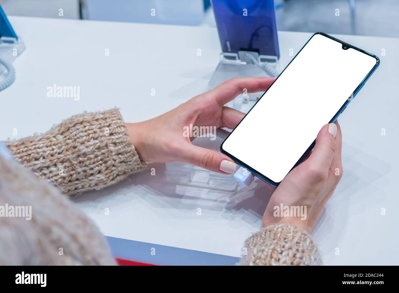
[[[315,33],[220,146],[277,187],[377,69],[377,56]]]

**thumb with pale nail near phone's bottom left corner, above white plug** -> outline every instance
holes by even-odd
[[[234,173],[237,167],[237,164],[223,153],[193,144],[184,150],[182,161],[222,174]]]

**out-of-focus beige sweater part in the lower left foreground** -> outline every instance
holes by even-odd
[[[2,155],[0,206],[0,265],[116,264],[105,237],[69,198]]]

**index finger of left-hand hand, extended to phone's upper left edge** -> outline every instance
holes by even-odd
[[[242,94],[245,90],[247,92],[262,92],[267,90],[275,79],[275,77],[236,77],[218,85],[208,93],[218,104],[224,105],[239,94]]]

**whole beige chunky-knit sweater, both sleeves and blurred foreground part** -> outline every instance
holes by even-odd
[[[32,219],[0,218],[0,265],[115,264],[104,237],[69,199],[140,171],[119,110],[83,113],[45,134],[4,142],[17,161],[0,156],[0,206],[32,206]],[[273,225],[245,242],[242,265],[317,265],[311,236]]]

